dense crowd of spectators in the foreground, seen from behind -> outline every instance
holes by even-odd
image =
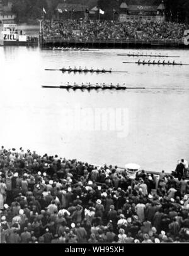
[[[1,243],[189,242],[188,162],[175,172],[96,167],[0,149]]]

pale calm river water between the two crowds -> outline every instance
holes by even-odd
[[[175,169],[178,159],[188,159],[188,66],[123,64],[123,61],[138,59],[117,56],[129,51],[134,50],[59,52],[0,47],[0,144],[93,164],[122,167],[128,162],[136,162],[151,171]],[[142,49],[135,52],[161,52],[180,56],[175,60],[189,63],[189,51],[186,50]],[[112,68],[128,73],[74,75],[44,70],[62,66]],[[67,82],[125,83],[129,87],[146,89],[67,92],[42,88],[42,85]],[[71,129],[66,126],[65,110],[76,107],[91,111],[96,108],[126,109],[127,131],[119,136],[118,130],[91,130],[87,124],[86,131]]]

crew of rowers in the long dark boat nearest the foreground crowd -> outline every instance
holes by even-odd
[[[96,85],[91,85],[91,83],[81,83],[81,85],[77,85],[76,83],[74,83],[74,85],[70,85],[69,82],[67,83],[66,85],[67,88],[71,88],[71,89],[74,89],[74,88],[86,88],[86,89],[89,89],[89,88],[110,88],[110,89],[118,89],[118,88],[121,88],[121,89],[126,89],[127,87],[125,87],[125,83],[123,83],[123,85],[120,85],[119,83],[117,85],[113,85],[112,83],[110,83],[110,85],[106,85],[105,83],[103,84],[99,84],[99,83],[96,83]]]

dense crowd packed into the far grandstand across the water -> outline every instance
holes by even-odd
[[[108,39],[181,40],[186,28],[186,24],[173,22],[43,21],[45,39],[75,39],[80,41]]]

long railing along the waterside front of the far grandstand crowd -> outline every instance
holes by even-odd
[[[140,39],[63,39],[61,37],[49,37],[44,42],[65,42],[65,43],[84,43],[84,44],[151,44],[151,45],[180,45],[183,44],[183,40],[140,40]]]

